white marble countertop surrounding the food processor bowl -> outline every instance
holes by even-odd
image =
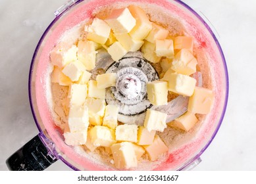
[[[0,1],[0,170],[38,134],[28,101],[36,44],[66,0]],[[214,25],[230,77],[226,116],[194,170],[256,170],[256,1],[184,0]],[[57,161],[47,170],[70,170]]]

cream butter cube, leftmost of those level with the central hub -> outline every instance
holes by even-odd
[[[69,86],[68,99],[70,106],[77,105],[82,106],[85,103],[87,97],[87,85],[72,83]]]

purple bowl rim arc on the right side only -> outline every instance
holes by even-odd
[[[222,109],[222,114],[220,115],[220,120],[218,121],[218,125],[215,129],[215,131],[213,132],[213,135],[211,137],[211,139],[209,139],[208,143],[205,145],[205,147],[203,147],[203,149],[201,149],[199,151],[199,153],[197,155],[195,155],[194,158],[192,158],[191,160],[189,160],[186,164],[184,164],[184,166],[178,168],[178,170],[184,170],[186,169],[188,166],[190,166],[190,164],[192,164],[193,162],[195,162],[195,160],[197,160],[198,158],[200,158],[201,154],[203,154],[203,152],[205,152],[205,150],[209,147],[209,145],[211,144],[211,142],[213,141],[213,139],[215,138],[215,136],[217,135],[218,129],[220,129],[220,126],[222,124],[222,121],[224,119],[224,114],[226,112],[226,106],[228,105],[228,93],[229,93],[229,78],[228,78],[228,68],[226,65],[226,59],[224,57],[224,53],[222,51],[222,48],[220,47],[220,43],[218,42],[217,37],[215,36],[213,30],[210,28],[210,26],[207,24],[207,22],[205,22],[205,20],[196,12],[192,9],[192,7],[190,7],[189,5],[187,5],[186,3],[184,3],[183,1],[180,0],[174,0],[177,3],[179,3],[180,5],[184,6],[186,9],[188,9],[190,12],[192,12],[202,23],[203,25],[207,28],[207,30],[209,31],[209,33],[213,36],[213,39],[215,40],[215,43],[218,47],[218,51],[220,52],[220,56],[222,58],[222,64],[224,66],[224,74],[226,77],[226,94],[225,94],[225,99],[224,99],[224,106]]]

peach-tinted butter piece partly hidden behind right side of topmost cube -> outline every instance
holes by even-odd
[[[140,7],[136,7],[135,5],[130,5],[128,9],[132,16],[136,18],[136,25],[129,32],[130,36],[135,40],[145,39],[152,30],[152,23],[149,21],[147,14]]]

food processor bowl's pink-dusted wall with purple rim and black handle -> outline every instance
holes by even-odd
[[[39,129],[39,134],[36,136],[37,140],[32,141],[33,143],[38,142],[38,145],[35,146],[37,150],[34,154],[45,155],[48,158],[47,164],[41,164],[40,168],[32,167],[31,170],[44,170],[58,159],[73,170],[116,170],[104,162],[97,162],[97,160],[82,156],[73,147],[64,143],[63,131],[55,125],[51,110],[50,74],[53,68],[50,64],[49,53],[66,30],[70,30],[74,26],[81,24],[81,22],[93,18],[93,12],[101,9],[101,7],[113,5],[120,7],[130,4],[155,7],[158,11],[163,11],[163,14],[170,14],[173,18],[177,18],[182,22],[182,25],[186,28],[186,33],[195,38],[197,58],[203,58],[208,62],[209,68],[203,69],[209,72],[204,77],[211,78],[211,88],[215,93],[213,108],[204,117],[203,124],[197,127],[197,133],[193,136],[193,139],[184,141],[179,147],[173,147],[168,157],[152,170],[188,170],[201,161],[201,154],[213,141],[224,118],[228,101],[228,70],[215,34],[197,12],[178,0],[68,1],[55,12],[56,18],[39,40],[30,66],[29,97],[34,120]],[[34,159],[35,157],[31,152],[31,150],[26,150],[21,155],[14,154],[13,156],[23,160],[31,160],[33,158],[32,162],[22,165],[21,162],[17,161],[14,164],[14,159],[11,156],[7,160],[7,165],[11,170],[22,170],[22,168],[25,170],[28,165],[38,165],[38,160]],[[26,154],[30,156],[24,158]],[[13,167],[14,165],[15,167]],[[139,168],[138,170],[143,169]],[[146,170],[151,169],[147,168]]]

